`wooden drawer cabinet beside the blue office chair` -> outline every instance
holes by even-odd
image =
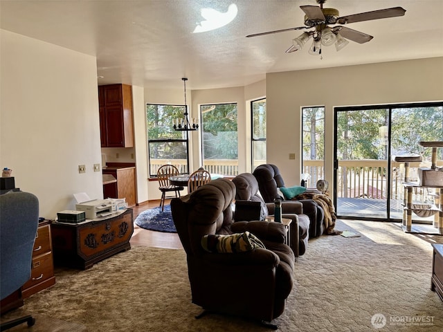
[[[55,284],[51,223],[39,223],[33,248],[33,266],[28,282],[21,288],[24,298]]]

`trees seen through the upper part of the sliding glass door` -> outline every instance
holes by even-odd
[[[386,159],[388,124],[389,109],[338,112],[338,158]],[[431,157],[431,149],[420,147],[418,142],[443,140],[443,107],[392,108],[390,131],[392,156],[422,154],[426,160]]]

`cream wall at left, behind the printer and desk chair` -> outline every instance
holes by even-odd
[[[96,58],[1,30],[0,166],[39,198],[40,216],[102,198]],[[86,173],[78,173],[86,165]]]

